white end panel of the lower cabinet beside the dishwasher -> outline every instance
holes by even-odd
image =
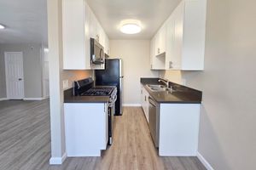
[[[196,156],[200,104],[160,104],[160,156]]]

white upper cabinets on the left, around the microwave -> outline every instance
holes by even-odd
[[[64,70],[104,69],[90,65],[90,37],[106,48],[108,36],[84,0],[62,1],[62,36]]]

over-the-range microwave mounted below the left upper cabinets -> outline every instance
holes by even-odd
[[[105,63],[104,48],[94,38],[90,38],[90,62],[95,65]]]

